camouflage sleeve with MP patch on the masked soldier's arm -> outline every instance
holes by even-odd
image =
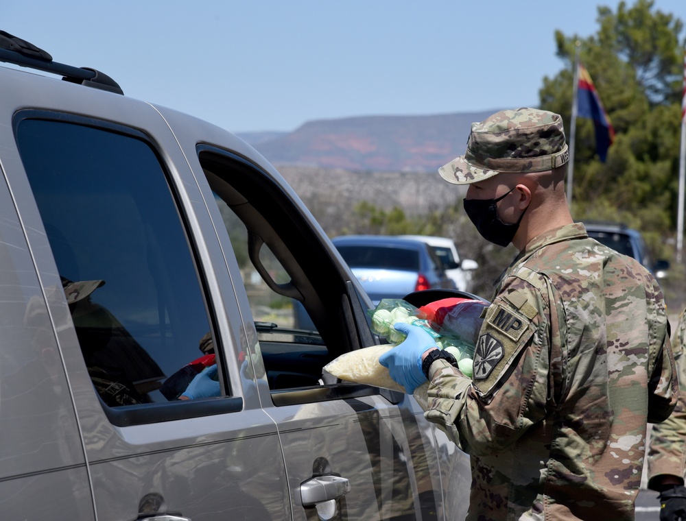
[[[473,379],[445,361],[431,365],[425,417],[464,452],[502,452],[545,417],[550,298],[549,292],[510,278],[486,313]],[[558,324],[555,318],[554,327]]]

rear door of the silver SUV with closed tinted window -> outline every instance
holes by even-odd
[[[27,178],[10,186],[54,291],[97,518],[289,519],[276,428],[241,367],[231,276],[169,129],[125,97],[52,93],[51,110],[14,117]],[[67,297],[70,283],[80,289]],[[220,396],[163,393],[207,354]]]

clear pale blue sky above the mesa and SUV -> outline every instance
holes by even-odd
[[[535,106],[554,31],[618,0],[3,1],[0,29],[231,132]],[[632,5],[633,1],[628,1]],[[685,0],[655,8],[686,22]]]

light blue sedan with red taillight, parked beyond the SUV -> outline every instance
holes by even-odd
[[[341,235],[331,242],[376,306],[423,289],[455,289],[434,250],[423,241],[393,235]]]

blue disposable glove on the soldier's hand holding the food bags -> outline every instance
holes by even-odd
[[[395,324],[397,331],[407,338],[396,347],[379,356],[379,363],[388,367],[388,374],[396,383],[405,387],[407,394],[427,381],[422,372],[422,355],[426,350],[436,348],[436,340],[423,328],[410,324]]]

